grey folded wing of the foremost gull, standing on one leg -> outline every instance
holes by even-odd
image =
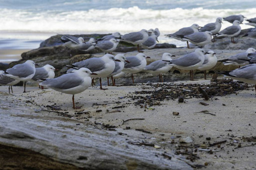
[[[55,89],[69,89],[79,86],[83,80],[74,73],[64,74],[54,79],[48,79],[40,85]]]

